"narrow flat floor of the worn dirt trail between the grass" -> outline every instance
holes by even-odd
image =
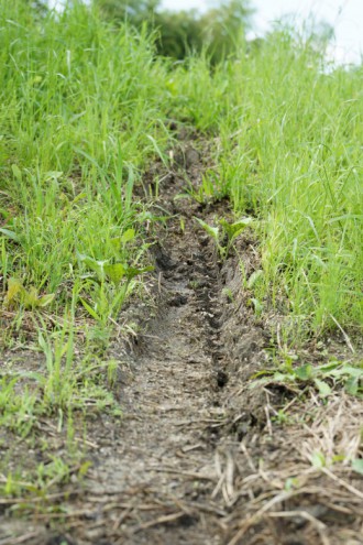
[[[123,390],[119,446],[87,482],[84,509],[94,511],[87,497],[102,493],[111,504],[112,495],[122,498],[122,505],[109,509],[108,523],[103,511],[101,524],[78,526],[79,543],[222,543],[218,521],[227,513],[213,499],[228,381],[222,283],[213,244],[195,220],[198,203],[175,199],[184,185],[170,175],[161,188],[162,206],[175,217],[153,249],[160,308],[141,334],[134,380]]]

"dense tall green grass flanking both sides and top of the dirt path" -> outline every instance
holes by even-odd
[[[144,212],[131,195],[172,117],[218,138],[216,196],[258,219],[258,296],[302,337],[361,321],[361,68],[327,73],[316,44],[287,31],[250,54],[242,43],[211,73],[204,58],[155,58],[150,37],[81,6],[40,20],[4,3],[2,17],[4,292],[16,277],[59,310],[69,286],[76,301],[95,295],[91,260],[140,262],[142,243],[127,239]]]

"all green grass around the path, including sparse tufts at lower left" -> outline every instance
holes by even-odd
[[[153,216],[134,187],[155,157],[166,162],[169,121],[215,139],[215,165],[195,197],[229,197],[237,219],[253,218],[262,272],[246,285],[258,314],[287,316],[293,344],[354,334],[362,68],[328,73],[317,44],[287,31],[249,54],[241,43],[212,70],[204,57],[172,64],[155,57],[146,32],[116,31],[81,4],[44,19],[22,1],[0,7],[3,428],[35,443],[33,428],[51,417],[72,444],[75,411],[119,413],[120,362],[108,348],[151,270]],[[53,458],[46,478],[33,467],[26,481],[11,465],[3,493],[34,491],[33,481],[48,491],[82,473],[77,449],[70,455]]]

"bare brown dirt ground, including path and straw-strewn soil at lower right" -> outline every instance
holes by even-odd
[[[132,349],[113,348],[130,370],[118,386],[124,416],[88,424],[92,466],[64,512],[15,526],[3,505],[0,544],[362,544],[362,479],[344,462],[314,465],[316,451],[359,456],[361,404],[250,388],[272,347],[241,290],[239,262],[258,269],[257,244],[246,232],[219,260],[195,217],[212,222],[228,204],[179,198],[183,172],[197,186],[208,161],[193,142],[180,150],[158,189],[174,218],[151,250],[155,316],[144,310]]]

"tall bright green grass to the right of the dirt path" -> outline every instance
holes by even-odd
[[[362,325],[362,67],[332,69],[288,31],[250,55],[242,44],[211,76],[200,63],[174,88],[218,137],[219,185],[235,212],[260,219],[261,297],[302,337]]]

